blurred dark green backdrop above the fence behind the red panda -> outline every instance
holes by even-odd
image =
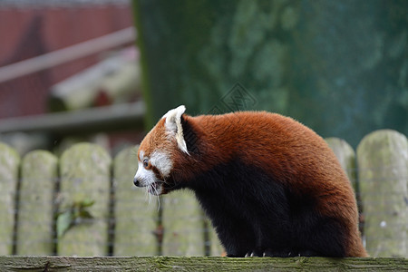
[[[150,128],[190,115],[266,110],[355,146],[408,134],[408,1],[134,0]]]

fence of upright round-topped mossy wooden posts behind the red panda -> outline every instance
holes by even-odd
[[[369,254],[407,257],[406,137],[374,131],[356,154],[345,141],[326,141],[357,191]],[[149,196],[133,186],[136,170],[131,148],[112,159],[80,143],[61,158],[32,151],[21,160],[0,143],[0,256],[220,256],[193,195]]]

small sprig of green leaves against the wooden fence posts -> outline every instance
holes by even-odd
[[[91,212],[88,210],[95,201],[92,199],[83,199],[82,201],[73,202],[57,214],[56,231],[57,237],[62,238],[63,234],[73,226],[83,223],[83,219],[93,219]]]

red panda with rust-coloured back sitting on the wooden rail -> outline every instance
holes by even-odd
[[[153,195],[191,189],[228,257],[366,257],[355,194],[314,131],[269,112],[167,112],[133,180]]]

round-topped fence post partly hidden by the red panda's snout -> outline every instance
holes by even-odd
[[[145,189],[133,185],[137,169],[137,148],[121,151],[113,161],[115,256],[153,256],[159,251],[154,236],[159,216],[157,204],[147,201]]]

